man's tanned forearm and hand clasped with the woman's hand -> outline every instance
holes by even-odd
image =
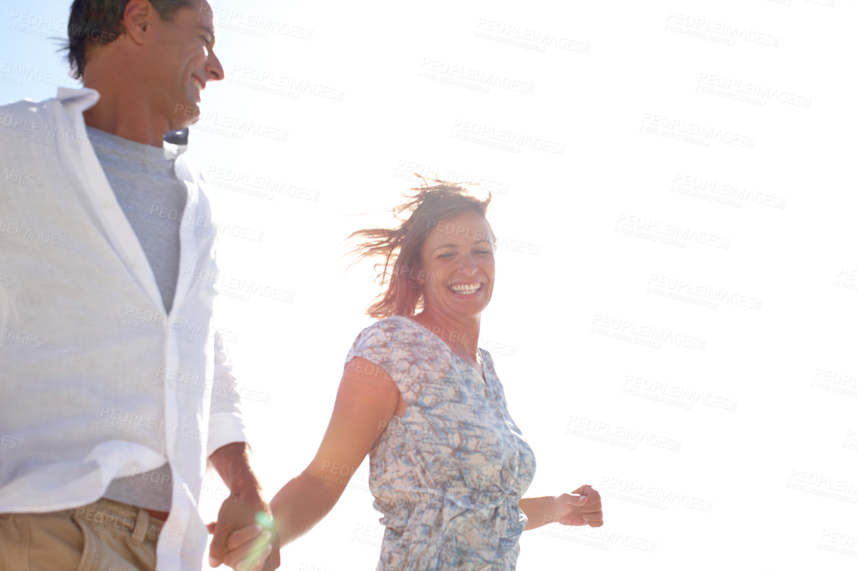
[[[208,551],[208,564],[225,562],[236,571],[273,571],[279,567],[279,538],[273,530],[271,507],[262,499],[261,486],[250,469],[245,442],[232,442],[209,456],[220,477],[232,492],[220,506]],[[247,528],[250,528],[249,530]],[[238,532],[240,530],[240,532]],[[236,533],[233,533],[236,532]],[[239,559],[233,553],[244,555]]]

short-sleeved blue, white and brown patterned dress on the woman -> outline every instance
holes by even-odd
[[[393,316],[363,329],[345,362],[355,357],[386,370],[407,404],[369,452],[386,526],[376,571],[514,569],[536,459],[490,353],[479,349],[482,381],[428,328]]]

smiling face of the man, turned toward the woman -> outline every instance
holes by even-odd
[[[153,99],[171,129],[195,123],[201,91],[208,81],[224,77],[214,55],[214,13],[205,0],[177,9],[172,21],[158,21],[158,34],[149,53]]]

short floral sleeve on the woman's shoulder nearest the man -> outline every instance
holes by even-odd
[[[422,374],[418,366],[419,345],[412,334],[394,318],[381,320],[363,329],[345,358],[364,358],[393,377],[405,404],[411,405],[422,394]]]

